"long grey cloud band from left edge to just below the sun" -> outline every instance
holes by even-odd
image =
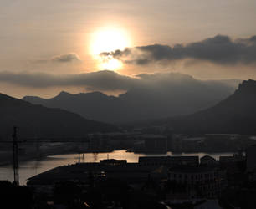
[[[0,72],[0,82],[24,87],[46,88],[54,86],[84,86],[86,89],[115,90],[129,89],[136,78],[103,70],[85,74],[47,74],[47,73],[13,73]]]

